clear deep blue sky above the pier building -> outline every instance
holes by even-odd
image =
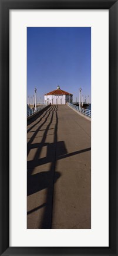
[[[79,101],[91,96],[91,28],[27,28],[27,94],[37,102],[57,86]]]

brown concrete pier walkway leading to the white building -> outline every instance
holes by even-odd
[[[91,228],[90,125],[67,105],[28,121],[27,228]]]

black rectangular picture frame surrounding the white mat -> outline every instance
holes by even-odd
[[[109,9],[109,247],[9,247],[9,10]],[[118,1],[0,0],[0,255],[118,255]],[[102,209],[101,209],[102,210]],[[99,220],[98,220],[99,221]],[[101,231],[102,232],[102,231]]]

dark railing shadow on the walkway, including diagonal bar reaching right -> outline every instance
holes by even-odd
[[[34,121],[36,121],[35,124],[33,123]],[[43,122],[41,123],[41,121]],[[54,128],[50,128],[50,125],[52,125],[52,123],[54,125]],[[36,153],[32,160],[27,161],[27,195],[30,196],[33,195],[33,193],[46,189],[45,202],[42,203],[42,205],[32,210],[29,210],[28,215],[35,212],[38,209],[44,208],[42,222],[39,224],[38,228],[49,229],[52,226],[53,187],[54,183],[60,178],[60,173],[55,171],[57,160],[89,151],[90,148],[86,148],[84,150],[79,150],[68,154],[68,151],[65,147],[65,142],[58,141],[57,105],[50,106],[50,108],[48,108],[45,111],[45,113],[42,113],[40,116],[37,116],[36,119],[32,119],[32,121],[30,120],[30,122],[28,122],[28,125],[31,125],[31,127],[28,128],[28,132],[31,132],[32,137],[28,141],[27,154],[29,155],[29,152],[33,148],[36,148]],[[43,125],[46,125],[45,129],[43,128]],[[34,131],[31,131],[33,128]],[[49,136],[49,130],[52,130],[53,134],[53,142],[50,143],[46,142],[46,139]],[[37,135],[39,131],[44,131],[42,135],[42,140],[39,143],[33,143],[33,140],[35,138],[38,138]],[[43,147],[47,147],[46,157],[40,158]],[[59,148],[59,154],[57,154],[56,148]],[[47,163],[50,163],[49,170],[33,174],[33,170],[35,169],[35,167],[42,166],[43,164]]]

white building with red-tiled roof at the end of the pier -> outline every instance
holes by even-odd
[[[44,95],[45,104],[51,103],[52,105],[66,104],[73,102],[73,95],[65,90],[60,89],[58,86],[56,90],[48,92]]]

